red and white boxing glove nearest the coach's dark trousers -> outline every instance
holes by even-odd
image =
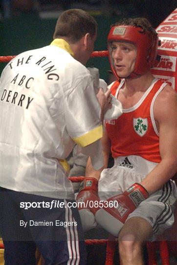
[[[97,226],[95,212],[99,209],[100,199],[97,196],[98,181],[95,178],[87,177],[79,187],[76,197],[78,209],[82,221],[83,230],[87,231]],[[97,203],[98,202],[98,203]],[[97,207],[95,207],[95,205]]]

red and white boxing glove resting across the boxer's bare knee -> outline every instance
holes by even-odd
[[[142,185],[135,183],[122,194],[106,200],[104,207],[95,214],[96,222],[117,237],[129,214],[148,197],[147,190]]]

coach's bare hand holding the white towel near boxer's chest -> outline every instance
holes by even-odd
[[[111,90],[107,89],[107,91],[104,93],[102,88],[99,88],[98,93],[96,94],[96,97],[98,99],[98,102],[101,106],[101,115],[100,115],[100,119],[103,122],[104,119],[104,115],[107,112],[107,110],[109,108],[111,108]]]

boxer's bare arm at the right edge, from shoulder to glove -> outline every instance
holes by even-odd
[[[151,194],[177,172],[177,93],[167,85],[157,96],[154,117],[159,128],[161,162],[141,182]]]

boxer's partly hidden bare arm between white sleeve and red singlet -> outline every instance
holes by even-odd
[[[110,156],[110,148],[111,148],[111,143],[110,143],[110,138],[107,135],[107,132],[104,131],[104,135],[101,139],[102,142],[102,149],[103,149],[103,157],[104,157],[104,166],[100,168],[99,170],[94,170],[90,158],[88,158],[87,161],[87,166],[86,166],[86,177],[93,177],[97,180],[100,179],[100,174],[104,168],[108,167],[108,161],[109,161],[109,156]]]

